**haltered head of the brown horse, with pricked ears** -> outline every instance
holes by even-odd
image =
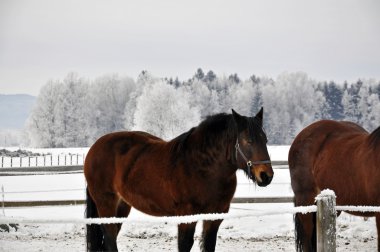
[[[239,115],[232,110],[237,128],[235,160],[238,168],[259,186],[267,186],[273,178],[273,169],[263,130],[263,108],[254,117]]]

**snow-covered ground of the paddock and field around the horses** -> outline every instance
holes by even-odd
[[[286,160],[288,146],[271,146],[272,160]],[[35,150],[33,150],[36,152]],[[45,150],[56,153],[75,153],[73,149]],[[85,153],[86,149],[83,150]],[[236,197],[291,196],[287,169],[275,169],[275,177],[268,187],[250,183],[239,173]],[[82,173],[0,177],[4,200],[60,200],[84,199],[85,180]],[[290,203],[232,204],[231,214],[258,216],[223,221],[218,232],[217,251],[294,251],[294,225]],[[5,208],[0,218],[24,217],[67,219],[82,218],[84,206]],[[276,215],[265,215],[279,211]],[[285,214],[281,214],[284,212]],[[176,251],[174,224],[152,223],[143,213],[132,210],[118,238],[120,251]],[[199,251],[201,225],[196,231],[193,251]],[[377,233],[374,218],[364,219],[342,214],[337,219],[337,251],[376,251]],[[20,224],[18,230],[0,232],[0,251],[84,251],[85,233],[82,224]]]

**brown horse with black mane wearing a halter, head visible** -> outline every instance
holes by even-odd
[[[262,120],[262,109],[217,114],[169,142],[145,132],[101,137],[84,165],[87,217],[127,217],[131,207],[154,216],[227,213],[238,168],[259,186],[272,180]],[[221,222],[203,222],[203,251],[215,250]],[[192,248],[195,226],[178,225],[179,251]],[[87,249],[116,251],[120,228],[88,225]]]

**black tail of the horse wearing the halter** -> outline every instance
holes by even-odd
[[[98,218],[98,210],[95,202],[86,188],[86,218]],[[86,247],[87,251],[102,251],[104,250],[104,236],[101,225],[87,224],[86,225]]]

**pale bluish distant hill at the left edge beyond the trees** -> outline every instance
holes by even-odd
[[[0,94],[0,130],[23,128],[35,101],[31,95]]]

